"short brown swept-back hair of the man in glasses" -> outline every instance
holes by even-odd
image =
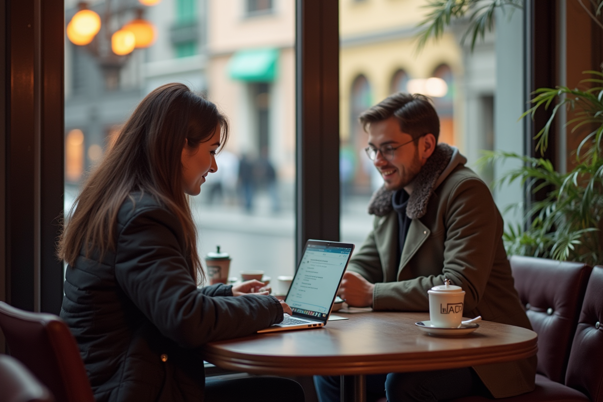
[[[434,134],[436,142],[440,136],[440,119],[431,99],[418,93],[394,93],[363,111],[358,120],[366,131],[367,125],[384,121],[391,116],[400,123],[400,130],[410,134],[415,141],[428,133]]]

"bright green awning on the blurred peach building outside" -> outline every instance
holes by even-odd
[[[230,58],[228,72],[233,80],[271,82],[276,77],[277,60],[277,49],[241,50]]]

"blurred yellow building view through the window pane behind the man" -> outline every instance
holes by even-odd
[[[466,27],[458,21],[458,30],[446,31],[416,52],[415,28],[425,19],[423,6],[428,3],[339,1],[339,127],[346,157],[340,168],[342,241],[357,245],[364,241],[373,218],[367,213],[368,201],[382,185],[372,162],[359,152],[368,136],[357,119],[370,105],[399,91],[429,96],[440,115],[440,141],[457,146],[472,167],[479,149],[493,141],[492,130],[484,127],[492,125],[495,35],[488,35],[472,53],[469,44],[460,45]],[[370,102],[362,105],[363,99]]]

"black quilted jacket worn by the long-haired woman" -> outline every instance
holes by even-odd
[[[67,267],[61,310],[98,402],[202,401],[199,347],[282,321],[276,298],[198,289],[182,225],[150,195],[122,204],[115,239],[102,262],[81,253]]]

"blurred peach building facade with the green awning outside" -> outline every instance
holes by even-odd
[[[258,193],[268,194],[272,212],[293,211],[294,13],[295,2],[283,0],[208,4],[208,95],[230,118],[226,151],[240,160],[247,212]]]

